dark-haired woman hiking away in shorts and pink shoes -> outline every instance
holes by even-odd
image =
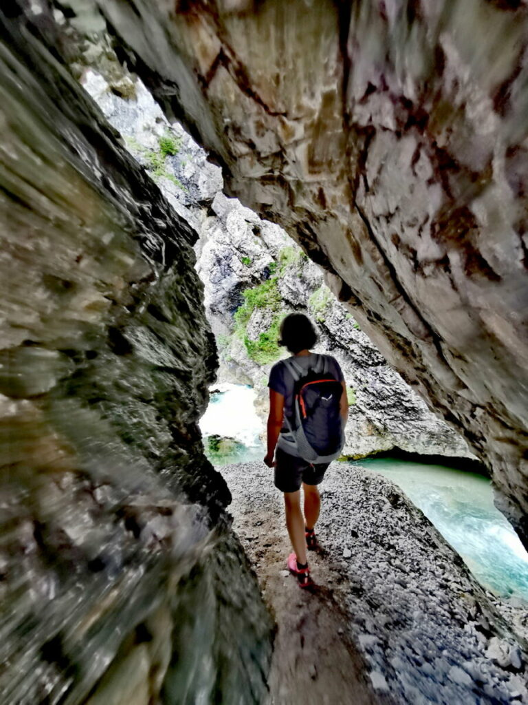
[[[291,357],[272,367],[268,381],[264,462],[275,467],[275,486],[284,493],[286,525],[294,549],[287,565],[301,587],[313,584],[306,548],[315,548],[316,543],[314,527],[321,507],[318,484],[331,460],[341,453],[348,415],[341,368],[331,355],[310,352],[317,340],[308,317],[294,313],[284,318],[279,345],[285,345]]]

